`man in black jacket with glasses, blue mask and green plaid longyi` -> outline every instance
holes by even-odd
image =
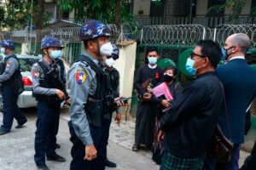
[[[195,76],[183,90],[160,122],[166,149],[161,170],[201,169],[207,145],[218,121],[218,112],[224,100],[215,69],[221,59],[221,49],[212,40],[197,43],[186,63],[186,69]]]

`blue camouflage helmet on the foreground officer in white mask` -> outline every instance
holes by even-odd
[[[80,40],[89,40],[96,37],[111,36],[110,28],[99,20],[89,20],[81,27]]]

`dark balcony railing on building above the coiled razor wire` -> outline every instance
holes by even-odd
[[[138,27],[152,26],[152,25],[187,25],[187,24],[200,24],[202,26],[207,26],[213,28],[221,24],[231,24],[230,17],[207,17],[207,16],[197,16],[197,17],[177,17],[177,16],[166,16],[166,17],[149,17],[149,16],[136,16]],[[235,24],[255,24],[256,16],[240,16]],[[234,23],[232,23],[234,24]]]

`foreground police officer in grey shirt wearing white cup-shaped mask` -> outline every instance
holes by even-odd
[[[67,73],[72,103],[68,122],[73,147],[70,169],[105,169],[102,161],[102,118],[104,106],[104,71],[99,59],[111,55],[111,30],[98,20],[89,20],[81,28],[85,52]]]

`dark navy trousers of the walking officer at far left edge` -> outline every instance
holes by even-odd
[[[13,92],[12,87],[6,84],[3,85],[1,89],[3,96],[3,125],[1,129],[9,132],[13,125],[14,118],[17,120],[18,124],[22,125],[26,122],[26,116],[22,114],[17,105],[19,95]]]

